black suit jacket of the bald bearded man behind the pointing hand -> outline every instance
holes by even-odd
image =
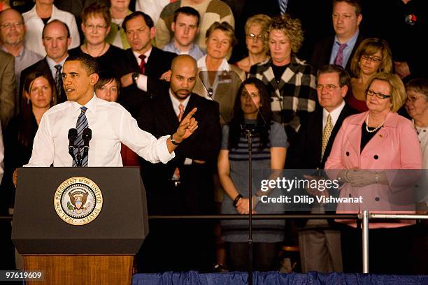
[[[194,115],[198,129],[176,148],[176,157],[166,164],[141,161],[152,214],[201,214],[213,210],[213,168],[221,143],[219,106],[191,94],[183,118],[194,107],[198,108]],[[138,125],[157,138],[176,132],[179,122],[167,90],[141,106]],[[206,163],[185,165],[186,158]],[[176,168],[180,169],[179,187],[171,182]]]

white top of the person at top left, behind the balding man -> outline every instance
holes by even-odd
[[[42,43],[42,31],[45,24],[41,20],[41,17],[37,15],[36,5],[28,12],[22,14],[22,17],[24,17],[25,26],[27,26],[27,34],[25,34],[24,40],[25,47],[44,57],[46,50]],[[52,22],[53,20],[60,20],[69,27],[71,37],[69,49],[80,46],[79,30],[73,14],[59,10],[55,5],[52,5],[52,15],[50,15],[48,22]]]

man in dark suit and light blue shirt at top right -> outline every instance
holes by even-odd
[[[333,1],[332,20],[336,34],[315,43],[310,61],[315,69],[324,64],[336,64],[350,71],[352,55],[364,39],[359,32],[361,9],[359,0]]]

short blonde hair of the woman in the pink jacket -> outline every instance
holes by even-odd
[[[401,81],[398,75],[386,72],[375,73],[369,78],[366,84],[366,89],[369,89],[371,83],[374,80],[381,80],[387,82],[390,85],[390,101],[391,101],[391,111],[397,112],[402,105],[406,102],[406,88],[404,88],[404,83]],[[387,95],[387,94],[385,94]]]

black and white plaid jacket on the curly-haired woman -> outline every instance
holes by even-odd
[[[262,80],[271,94],[273,120],[285,126],[287,136],[299,130],[301,119],[315,110],[317,90],[315,71],[306,61],[292,55],[279,82],[271,67],[272,61],[251,66],[248,77]],[[290,129],[291,128],[291,129]]]

